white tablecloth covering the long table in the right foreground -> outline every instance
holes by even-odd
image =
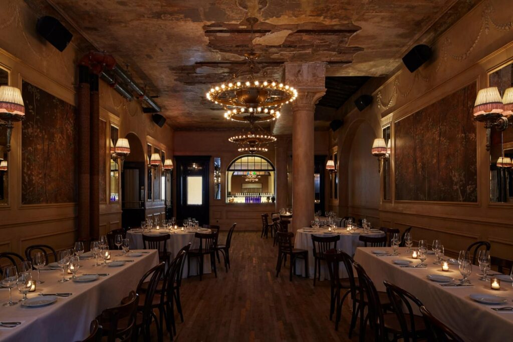
[[[457,265],[449,265],[449,272],[443,272],[441,266],[433,265],[434,256],[429,255],[427,268],[401,268],[392,263],[394,259],[412,260],[405,254],[406,248],[400,248],[398,257],[378,257],[371,253],[377,248],[358,248],[354,260],[363,266],[378,291],[384,291],[383,280],[388,280],[419,298],[424,306],[464,341],[510,341],[513,332],[513,313],[498,313],[492,307],[511,306],[513,289],[511,283],[502,282],[501,290],[490,290],[488,281],[478,278],[478,266],[472,267],[469,280],[474,288],[444,288],[426,278],[428,274],[443,274],[461,278]],[[389,250],[391,248],[380,248]],[[414,261],[414,264],[418,261]],[[508,299],[506,304],[490,306],[479,304],[469,298],[471,293],[493,294]]]

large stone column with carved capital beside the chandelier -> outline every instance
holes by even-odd
[[[309,227],[314,208],[313,114],[325,94],[325,63],[285,63],[285,80],[298,90],[292,103],[292,232]]]

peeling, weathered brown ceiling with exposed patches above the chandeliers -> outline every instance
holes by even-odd
[[[177,130],[244,125],[226,123],[205,92],[245,64],[250,44],[263,70],[278,78],[287,61],[326,62],[328,76],[383,76],[409,47],[431,43],[477,2],[46,1],[97,49],[127,64],[136,81],[159,96],[162,114]],[[251,16],[259,19],[253,34],[245,21]]]

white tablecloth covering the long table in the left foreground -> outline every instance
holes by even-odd
[[[112,255],[116,255],[114,251]],[[130,291],[135,291],[141,277],[159,263],[156,250],[141,257],[112,257],[112,260],[133,259],[121,267],[92,267],[95,260],[81,260],[83,266],[77,275],[83,273],[109,273],[106,277],[91,283],[57,283],[62,278],[62,271],[41,271],[41,280],[36,292],[28,297],[36,297],[39,292],[71,292],[70,297],[58,297],[57,301],[41,308],[25,308],[21,304],[12,307],[0,307],[0,321],[22,321],[16,328],[0,328],[1,341],[63,341],[82,340],[89,335],[89,326],[104,309],[120,304],[121,299]],[[37,272],[32,272],[37,279]],[[69,278],[70,275],[66,274]],[[13,301],[21,299],[16,288],[12,289]],[[0,290],[0,303],[9,300],[9,290]]]

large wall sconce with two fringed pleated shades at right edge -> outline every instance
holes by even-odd
[[[504,131],[508,125],[513,125],[507,118],[513,114],[513,88],[506,89],[503,98],[497,87],[481,89],[476,97],[473,114],[476,121],[484,123],[486,151],[489,151],[491,128]]]

